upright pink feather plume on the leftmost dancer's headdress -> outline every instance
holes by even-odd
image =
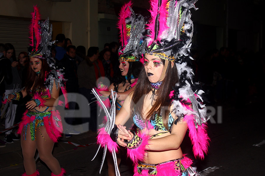
[[[40,26],[39,26],[39,20],[40,14],[39,14],[39,9],[37,6],[33,6],[34,12],[31,13],[32,19],[31,19],[31,24],[29,26],[29,39],[30,39],[30,46],[35,47],[33,50],[38,50],[39,43],[41,40],[41,33],[40,33]],[[34,35],[33,35],[34,34]],[[36,46],[34,46],[34,36],[36,38]]]

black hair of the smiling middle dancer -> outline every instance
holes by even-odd
[[[134,61],[134,62],[128,62],[128,63],[129,63],[129,69],[128,69],[128,73],[127,73],[128,82],[130,84],[132,84],[130,75],[133,75],[133,77],[135,79],[138,78],[140,71],[141,71],[141,68],[143,67],[143,64],[140,61]],[[125,77],[121,75],[120,69],[118,69],[118,70],[119,70],[119,73],[117,74],[117,76],[113,77],[114,87],[118,86],[122,82],[124,82],[124,83],[126,82]]]

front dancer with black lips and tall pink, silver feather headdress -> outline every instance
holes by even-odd
[[[180,148],[187,129],[195,157],[203,159],[208,151],[203,91],[193,92],[196,84],[187,66],[193,34],[190,9],[195,8],[195,2],[151,1],[150,33],[138,84],[119,113],[107,115],[115,119],[114,127],[108,123],[100,129],[100,145],[112,153],[117,144],[127,147],[135,163],[134,176],[196,175],[192,160]],[[135,131],[123,126],[130,117],[137,126]]]

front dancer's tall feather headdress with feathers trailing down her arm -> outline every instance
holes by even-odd
[[[152,0],[151,18],[148,24],[149,36],[145,46],[145,54],[161,59],[174,61],[179,81],[170,94],[173,111],[176,116],[183,117],[188,124],[189,136],[196,157],[204,158],[209,145],[207,135],[206,107],[202,104],[202,90],[193,83],[193,70],[188,66],[193,22],[190,9],[195,8],[197,0]],[[198,89],[197,89],[198,90]],[[174,93],[173,93],[174,92]],[[192,109],[189,105],[192,104]],[[180,118],[178,118],[180,119]]]

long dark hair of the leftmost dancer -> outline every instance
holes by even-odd
[[[38,90],[38,93],[40,94],[42,90],[45,89],[44,87],[44,81],[46,76],[45,74],[46,71],[49,72],[51,68],[47,64],[46,59],[40,59],[40,60],[42,61],[42,68],[40,70],[39,76],[37,76],[36,72],[34,72],[31,67],[28,67],[28,74],[27,74],[28,81],[25,86],[25,90],[27,91],[28,94],[30,93],[31,87],[33,86],[34,82],[35,84],[32,87],[33,94],[36,92],[36,90]]]

